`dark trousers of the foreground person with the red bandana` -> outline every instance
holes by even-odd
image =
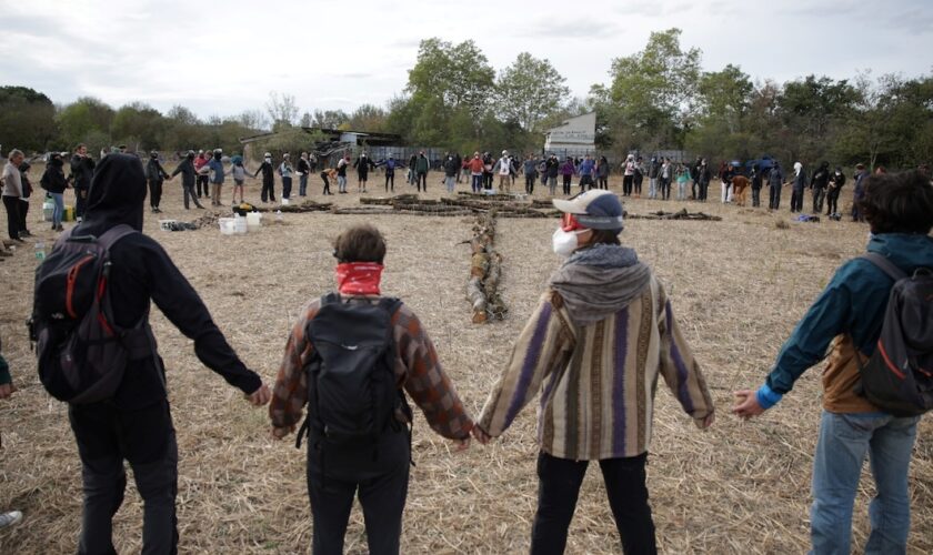
[[[375,445],[337,445],[308,438],[308,496],[314,526],[312,553],[340,555],[353,497],[359,495],[372,555],[397,555],[408,495],[409,437],[387,433]]]

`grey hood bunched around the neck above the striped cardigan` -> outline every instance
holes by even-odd
[[[598,244],[576,251],[551,275],[578,325],[599,322],[629,305],[651,282],[651,269],[633,249]]]

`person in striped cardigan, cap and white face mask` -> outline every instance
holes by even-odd
[[[538,396],[538,512],[531,553],[563,553],[586,466],[598,461],[625,553],[655,553],[645,463],[659,375],[698,427],[714,407],[664,287],[622,246],[619,198],[553,200],[565,256],[519,335],[473,435],[488,443]]]

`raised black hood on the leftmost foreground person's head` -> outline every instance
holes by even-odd
[[[142,163],[131,154],[109,154],[101,160],[88,191],[84,221],[76,235],[102,235],[107,230],[126,223],[142,231],[146,174]]]

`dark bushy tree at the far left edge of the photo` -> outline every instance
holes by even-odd
[[[41,151],[57,135],[49,97],[26,87],[0,87],[0,144],[6,150]]]

